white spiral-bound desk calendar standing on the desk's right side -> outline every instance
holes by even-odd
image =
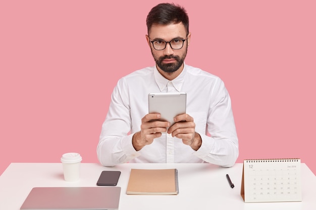
[[[240,194],[245,202],[302,201],[301,160],[244,160]]]

